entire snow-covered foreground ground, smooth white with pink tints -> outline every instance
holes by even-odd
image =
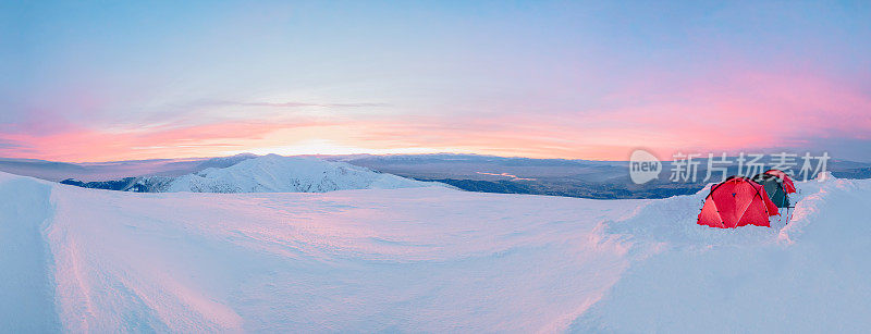
[[[798,186],[785,227],[720,230],[695,224],[706,190],[133,194],[0,173],[0,332],[871,331],[871,181]]]

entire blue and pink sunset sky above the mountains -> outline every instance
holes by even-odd
[[[5,158],[871,161],[867,1],[3,1],[0,78]]]

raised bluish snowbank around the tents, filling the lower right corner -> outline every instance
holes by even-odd
[[[609,224],[627,233],[637,258],[571,330],[867,333],[871,221],[861,210],[871,206],[871,181],[827,175],[798,185],[805,196],[780,230],[719,230],[694,226],[688,212],[662,215],[686,211],[668,202],[687,198]]]

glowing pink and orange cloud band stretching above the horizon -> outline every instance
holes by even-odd
[[[65,161],[203,157],[318,139],[364,150],[625,160],[637,147],[668,157],[677,150],[732,152],[801,148],[820,139],[871,140],[869,114],[871,98],[837,81],[734,72],[710,83],[630,87],[609,96],[602,107],[584,111],[469,112],[458,116],[338,113],[297,121],[216,121],[126,131],[58,121],[46,131],[0,134],[0,154]]]

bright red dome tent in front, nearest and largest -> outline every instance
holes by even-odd
[[[746,177],[729,177],[711,187],[699,213],[699,225],[732,228],[745,225],[768,226],[769,217],[777,215],[777,206],[765,188]]]

